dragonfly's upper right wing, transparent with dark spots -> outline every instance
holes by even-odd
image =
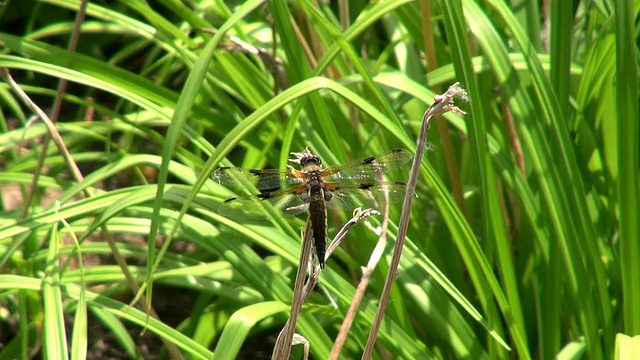
[[[413,155],[408,150],[394,149],[384,154],[370,156],[360,162],[337,165],[325,169],[325,181],[350,183],[353,180],[379,180],[381,173],[397,169],[411,160]]]

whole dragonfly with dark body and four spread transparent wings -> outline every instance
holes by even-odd
[[[358,162],[323,169],[320,157],[307,148],[305,152],[292,152],[289,159],[300,170],[291,165],[287,165],[286,170],[221,167],[211,178],[233,190],[253,186],[259,191],[255,195],[225,200],[218,213],[227,218],[267,220],[308,212],[315,253],[320,267],[324,268],[327,208],[343,211],[381,208],[387,199],[400,201],[404,198],[406,183],[385,181],[382,174],[402,167],[412,157],[407,150],[393,149]],[[265,204],[277,212],[269,212]]]

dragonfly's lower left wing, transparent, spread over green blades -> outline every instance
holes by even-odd
[[[277,211],[270,211],[273,206]],[[282,191],[257,196],[231,198],[223,202],[218,213],[234,220],[267,220],[281,216],[295,216],[309,208],[306,193],[287,194]]]

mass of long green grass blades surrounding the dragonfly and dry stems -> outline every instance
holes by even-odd
[[[0,8],[0,68],[26,92],[3,73],[2,358],[268,357],[303,219],[220,217],[211,171],[283,168],[306,146],[326,165],[415,151],[455,81],[468,115],[429,134],[374,357],[609,358],[640,333],[639,1],[89,2],[71,51],[80,5]],[[346,217],[330,217],[334,233]],[[298,326],[312,357],[376,240],[360,225],[329,259]],[[159,313],[144,336],[136,283]]]

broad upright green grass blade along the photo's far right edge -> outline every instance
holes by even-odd
[[[640,222],[638,207],[638,79],[637,31],[633,1],[615,2],[616,112],[618,123],[618,214],[624,329],[640,334]],[[637,9],[637,6],[636,6]],[[636,18],[637,19],[637,18]],[[636,340],[636,348],[638,341]]]

